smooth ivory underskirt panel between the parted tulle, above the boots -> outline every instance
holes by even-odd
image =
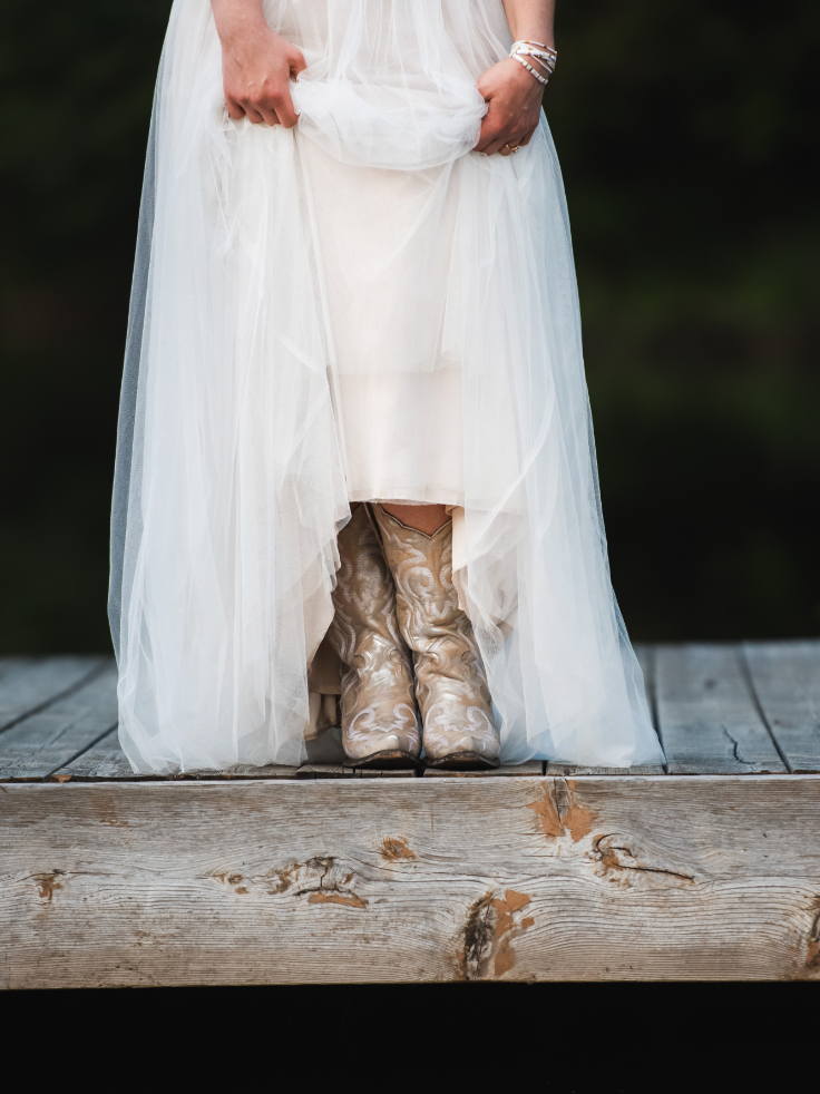
[[[299,147],[349,499],[463,506],[461,369],[445,348],[458,176],[449,164],[361,167]],[[432,199],[445,211],[435,218]]]

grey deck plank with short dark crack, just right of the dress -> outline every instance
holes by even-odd
[[[736,646],[658,646],[655,658],[670,774],[788,770],[758,712]]]

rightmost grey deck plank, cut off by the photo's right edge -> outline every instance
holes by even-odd
[[[746,642],[767,722],[791,771],[820,771],[820,642]]]

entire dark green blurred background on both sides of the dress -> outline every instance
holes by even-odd
[[[205,2],[205,0],[203,0]],[[0,0],[1,652],[98,651],[167,0]],[[820,632],[817,0],[559,0],[613,578],[633,637]]]

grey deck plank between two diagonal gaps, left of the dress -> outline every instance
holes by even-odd
[[[0,781],[48,779],[116,722],[116,667],[111,663],[0,735]]]

